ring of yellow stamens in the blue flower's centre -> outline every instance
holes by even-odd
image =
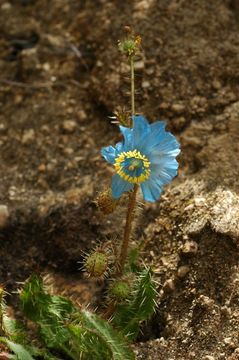
[[[131,164],[128,166],[129,171],[134,171],[139,167],[139,161],[142,161],[140,167],[143,168],[142,174],[140,176],[130,176],[125,172],[125,165],[123,164],[126,159],[132,159]],[[132,183],[132,184],[140,184],[146,181],[150,176],[150,161],[147,159],[145,155],[142,155],[140,151],[133,150],[122,152],[116,159],[115,159],[115,169],[118,175],[120,175],[124,180]]]

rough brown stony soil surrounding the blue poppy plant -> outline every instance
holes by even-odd
[[[122,225],[93,200],[112,174],[99,150],[119,139],[108,116],[129,101],[116,46],[125,24],[143,38],[137,111],[167,119],[182,144],[178,178],[138,223],[159,298],[135,352],[236,360],[237,0],[1,1],[0,281],[11,291],[50,272],[59,291],[89,300],[82,251]]]

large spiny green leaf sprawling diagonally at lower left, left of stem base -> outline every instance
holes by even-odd
[[[134,359],[122,334],[98,316],[80,311],[71,301],[48,294],[41,278],[32,276],[20,298],[25,315],[38,325],[49,350],[74,360]]]

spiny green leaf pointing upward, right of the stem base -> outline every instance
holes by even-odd
[[[140,323],[155,311],[157,291],[151,272],[145,269],[139,274],[132,298],[119,304],[114,314],[113,324],[130,340],[137,337]]]

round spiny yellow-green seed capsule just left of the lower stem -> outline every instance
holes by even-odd
[[[102,251],[95,251],[85,260],[85,269],[90,276],[101,277],[107,270],[107,255]]]

